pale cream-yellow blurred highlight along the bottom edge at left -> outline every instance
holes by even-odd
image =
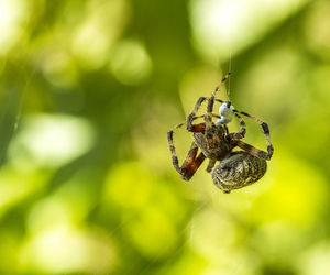
[[[114,255],[113,246],[101,234],[55,227],[26,242],[21,265],[43,273],[108,273]]]

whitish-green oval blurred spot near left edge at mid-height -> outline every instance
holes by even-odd
[[[88,121],[66,114],[37,114],[26,119],[10,147],[13,161],[41,166],[63,165],[86,153],[95,132]]]

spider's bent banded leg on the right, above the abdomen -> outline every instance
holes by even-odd
[[[267,123],[263,122],[258,118],[255,118],[255,117],[249,114],[248,112],[241,112],[241,111],[238,111],[238,110],[234,110],[234,112],[243,114],[243,116],[254,120],[256,123],[258,123],[262,127],[262,129],[264,131],[264,134],[266,136],[267,152],[255,148],[255,147],[253,147],[253,146],[251,146],[251,145],[249,145],[249,144],[246,144],[242,141],[239,141],[238,146],[240,146],[241,148],[250,152],[252,155],[255,155],[260,158],[270,161],[272,158],[273,153],[274,153],[274,146],[272,144],[272,140],[271,140],[271,135],[270,135],[270,128],[268,128]]]

